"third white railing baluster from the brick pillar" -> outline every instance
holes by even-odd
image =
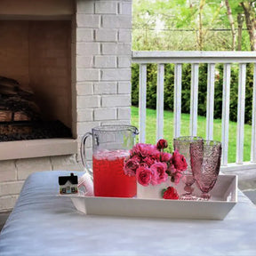
[[[174,68],[174,138],[180,136],[181,124],[181,82],[182,64],[175,64]]]

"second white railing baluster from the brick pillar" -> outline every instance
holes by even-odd
[[[156,141],[164,138],[164,64],[157,66]]]

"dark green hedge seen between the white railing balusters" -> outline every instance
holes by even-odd
[[[223,91],[223,65],[215,67],[214,84],[214,118],[222,115],[222,91]],[[230,77],[230,106],[229,118],[237,120],[238,100],[238,72],[237,64],[232,65]],[[155,64],[147,66],[147,108],[156,109],[156,81],[157,67]],[[164,66],[164,109],[173,111],[174,103],[174,65]],[[247,66],[246,91],[245,91],[245,116],[246,124],[252,123],[252,86],[253,86],[253,65]],[[139,65],[132,65],[132,105],[139,106]],[[181,91],[181,112],[189,114],[190,111],[190,87],[191,87],[191,65],[182,65],[182,91]],[[198,81],[198,109],[199,116],[206,116],[207,100],[207,64],[199,66]]]

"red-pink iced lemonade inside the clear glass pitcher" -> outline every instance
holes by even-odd
[[[94,196],[133,197],[136,177],[124,174],[124,159],[129,150],[102,150],[92,156]]]

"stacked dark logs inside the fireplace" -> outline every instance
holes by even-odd
[[[16,80],[0,76],[0,122],[39,120],[40,110],[33,98],[34,93]]]

